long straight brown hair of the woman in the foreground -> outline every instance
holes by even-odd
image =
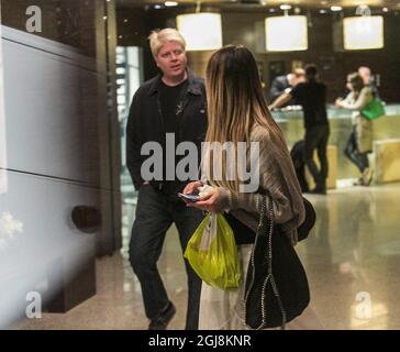
[[[270,138],[286,145],[278,124],[274,121],[264,97],[262,82],[253,54],[242,45],[227,45],[215,52],[205,74],[209,124],[207,142],[246,142],[255,124],[264,127]],[[236,150],[237,151],[237,150]],[[237,153],[235,152],[236,165]],[[213,165],[212,155],[208,155]],[[222,175],[226,165],[222,162]],[[236,173],[237,175],[237,173]],[[238,179],[212,179],[211,184],[238,191]]]

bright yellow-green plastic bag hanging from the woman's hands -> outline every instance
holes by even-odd
[[[236,242],[223,215],[209,212],[205,216],[189,240],[185,257],[210,286],[238,287],[242,273]]]

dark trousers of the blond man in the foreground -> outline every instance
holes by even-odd
[[[130,242],[130,261],[141,282],[144,307],[148,319],[156,318],[169,301],[157,270],[157,261],[168,228],[175,222],[184,252],[202,218],[203,215],[200,210],[187,208],[184,202],[170,201],[167,196],[151,185],[144,185],[140,188],[136,218]],[[186,260],[185,266],[189,288],[186,329],[197,330],[201,279]]]

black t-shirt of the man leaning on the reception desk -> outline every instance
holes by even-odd
[[[315,80],[298,84],[290,95],[301,105],[304,113],[304,128],[326,125],[326,87]]]

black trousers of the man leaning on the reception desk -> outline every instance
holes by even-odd
[[[309,168],[316,187],[325,187],[329,168],[326,156],[329,138],[330,127],[327,124],[305,129],[303,161]],[[316,150],[318,158],[320,161],[320,169],[318,169],[313,160],[314,150]]]

